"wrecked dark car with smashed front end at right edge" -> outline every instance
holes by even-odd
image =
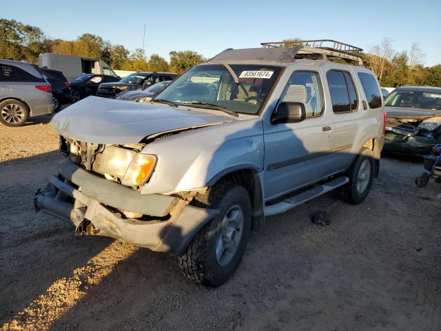
[[[384,101],[384,151],[423,156],[441,143],[441,88],[403,86]]]

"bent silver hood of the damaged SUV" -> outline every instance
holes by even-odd
[[[158,132],[234,121],[231,117],[174,108],[88,97],[56,114],[50,125],[63,137],[88,143],[139,143]]]

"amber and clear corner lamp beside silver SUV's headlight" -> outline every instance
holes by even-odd
[[[123,181],[121,183],[127,186],[143,185],[154,170],[156,165],[156,156],[150,154],[136,154],[132,162],[125,172]]]

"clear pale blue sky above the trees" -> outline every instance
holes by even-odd
[[[0,17],[38,26],[50,38],[97,34],[168,59],[170,50],[213,57],[262,41],[336,39],[369,50],[382,37],[395,50],[419,43],[424,65],[441,63],[441,0],[3,0]]]

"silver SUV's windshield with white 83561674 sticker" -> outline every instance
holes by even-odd
[[[176,79],[155,99],[186,103],[209,103],[243,114],[258,114],[281,67],[232,65],[239,83],[220,64],[195,66]]]

